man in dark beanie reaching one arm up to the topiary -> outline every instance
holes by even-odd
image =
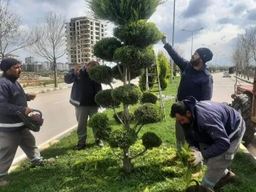
[[[188,61],[179,55],[176,50],[168,43],[166,36],[161,40],[164,48],[167,50],[174,63],[181,69],[181,82],[178,86],[178,94],[176,100],[184,100],[188,96],[193,96],[198,101],[210,100],[213,95],[213,77],[210,75],[206,62],[213,58],[213,53],[208,48],[198,48],[191,55]],[[184,144],[184,133],[179,122],[175,124],[176,144],[178,152],[181,145]],[[175,161],[169,159],[170,162]]]

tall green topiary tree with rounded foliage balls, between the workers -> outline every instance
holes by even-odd
[[[125,172],[132,171],[132,159],[142,155],[146,150],[160,146],[161,139],[156,134],[147,132],[142,136],[144,150],[131,156],[130,146],[139,138],[139,131],[145,124],[159,122],[163,114],[159,107],[151,103],[140,106],[134,112],[135,124],[131,124],[132,115],[129,105],[137,104],[142,98],[142,91],[131,80],[142,75],[142,70],[156,62],[153,44],[161,39],[163,34],[154,23],[147,21],[156,11],[156,7],[164,3],[161,0],[86,0],[92,14],[100,19],[114,23],[113,38],[104,38],[94,47],[94,54],[102,59],[117,63],[110,70],[107,66],[96,66],[89,72],[92,80],[110,85],[111,90],[98,92],[95,101],[102,107],[114,108],[120,103],[124,106],[122,112],[115,112],[114,117],[122,123],[120,129],[111,132],[107,141],[114,149],[121,149]],[[112,88],[112,79],[122,80],[123,85]],[[104,116],[99,118],[105,119]],[[94,118],[91,120],[94,121]],[[99,119],[95,119],[97,122]],[[102,120],[102,122],[104,122]],[[99,126],[91,123],[92,126]],[[93,128],[93,127],[92,127]],[[100,129],[102,132],[103,129]],[[103,134],[99,134],[103,135]]]

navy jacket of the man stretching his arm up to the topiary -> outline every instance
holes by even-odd
[[[188,96],[193,96],[198,101],[210,100],[213,95],[213,77],[206,65],[200,70],[195,70],[191,63],[178,55],[169,43],[166,43],[164,48],[181,69],[177,100],[184,100]]]

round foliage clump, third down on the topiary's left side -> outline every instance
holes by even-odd
[[[111,95],[112,90],[102,90],[95,95],[95,102],[104,108],[117,108],[121,102],[117,102]]]

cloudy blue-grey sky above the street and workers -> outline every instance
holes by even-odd
[[[67,22],[70,18],[87,16],[88,13],[85,0],[11,0],[10,7],[16,10],[22,25],[28,28],[42,23],[49,11],[65,16]],[[210,64],[231,66],[230,57],[239,34],[256,26],[256,0],[176,0],[175,22],[174,0],[169,0],[158,6],[149,21],[156,23],[170,44],[174,23],[174,46],[183,50],[185,59],[191,59],[193,33],[192,52],[201,47],[210,48],[213,51]],[[108,36],[112,36],[113,27],[112,23],[108,23]],[[154,49],[166,53],[161,41],[154,45]],[[27,56],[34,56],[38,61],[45,60],[26,50],[17,50],[14,54],[19,55],[23,62]],[[65,55],[58,62],[65,63],[68,61],[66,58]]]

